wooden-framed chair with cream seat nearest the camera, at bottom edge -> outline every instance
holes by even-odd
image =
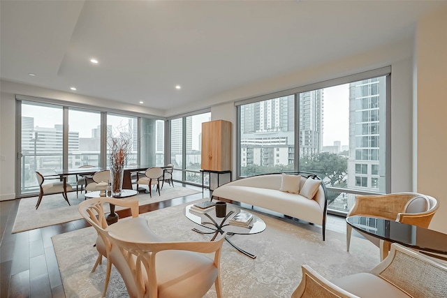
[[[220,258],[226,233],[200,242],[134,241],[129,232],[116,230],[109,235],[110,258],[131,298],[200,298],[213,284],[222,297]],[[214,253],[214,258],[205,253]]]

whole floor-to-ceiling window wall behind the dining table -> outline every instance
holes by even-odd
[[[50,102],[49,102],[50,101]],[[116,114],[104,108],[88,110],[58,100],[17,96],[17,195],[38,192],[35,171],[54,175],[54,170],[94,165],[107,168],[107,137],[131,135],[127,165],[165,165],[164,119],[140,114]],[[68,177],[75,183],[75,176]]]

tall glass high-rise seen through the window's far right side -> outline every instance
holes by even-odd
[[[386,191],[385,107],[386,77],[349,84],[349,188]]]

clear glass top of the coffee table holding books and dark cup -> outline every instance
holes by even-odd
[[[226,204],[227,216],[225,218],[217,217],[215,208],[212,208],[210,211],[207,211],[206,215],[191,211],[190,209],[192,206],[193,204],[186,206],[185,216],[189,218],[189,220],[205,228],[216,228],[216,225],[219,225],[221,230],[227,232],[228,234],[257,234],[263,232],[266,228],[264,221],[255,214],[253,214],[253,220],[251,221],[249,228],[230,225],[228,223],[228,220],[232,218],[235,214],[237,214],[241,210],[247,212],[247,210],[241,209],[241,207],[233,204],[228,203]],[[230,215],[228,216],[228,214]],[[215,223],[213,223],[212,221],[215,221]]]

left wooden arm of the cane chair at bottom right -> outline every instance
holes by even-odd
[[[326,278],[318,274],[314,269],[307,265],[302,265],[302,279],[298,288],[293,292],[291,298],[300,297],[350,297],[360,298],[356,295],[346,292],[337,285],[331,283]]]

